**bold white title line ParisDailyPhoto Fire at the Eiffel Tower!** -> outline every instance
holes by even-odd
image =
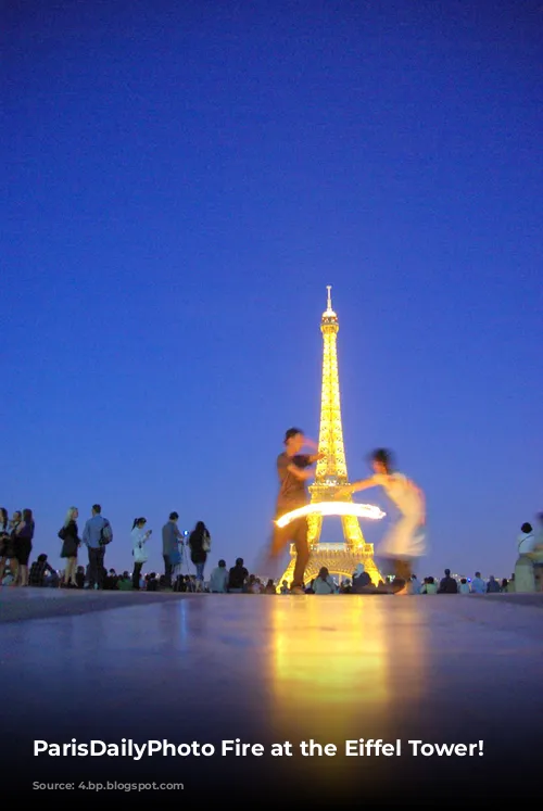
[[[190,744],[174,744],[169,740],[147,740],[137,744],[135,740],[122,738],[117,744],[105,740],[89,740],[79,743],[72,738],[70,743],[58,744],[47,740],[34,742],[35,757],[46,756],[53,758],[70,757],[109,757],[109,758],[129,758],[131,760],[142,760],[149,757],[203,757],[212,758],[219,756],[224,758],[262,758],[266,755],[272,757],[292,758],[295,756],[304,758],[333,758],[336,756],[361,758],[361,757],[422,757],[422,758],[465,758],[482,757],[483,740],[477,744],[437,744],[426,740],[402,740],[396,738],[394,742],[384,742],[380,738],[357,738],[344,740],[341,745],[333,743],[319,743],[310,738],[293,744],[290,740],[264,744],[243,743],[240,738],[233,740],[222,740],[220,746],[214,744],[202,744],[197,740]]]

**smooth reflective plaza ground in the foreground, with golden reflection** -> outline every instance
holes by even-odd
[[[1,762],[36,796],[83,784],[89,798],[136,787],[251,804],[539,796],[542,684],[540,595],[0,590]],[[216,753],[34,757],[36,739],[73,738]],[[220,755],[236,738],[264,755]],[[345,757],[359,738],[400,739],[401,755]],[[310,740],[337,753],[305,757]],[[482,755],[415,757],[409,740],[481,740]],[[285,742],[292,755],[273,757]]]

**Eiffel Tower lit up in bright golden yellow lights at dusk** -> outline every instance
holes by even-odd
[[[331,286],[327,287],[328,302],[320,321],[324,341],[323,356],[323,390],[320,395],[320,430],[318,449],[325,454],[317,462],[315,483],[310,486],[312,504],[330,502],[339,489],[349,484],[346,472],[345,448],[343,445],[343,426],[341,422],[341,398],[338,373],[337,338],[339,331],[338,316],[332,309]],[[352,500],[352,498],[342,498]],[[358,563],[364,563],[371,582],[378,585],[382,580],[374,562],[374,544],[364,540],[359,520],[356,516],[342,516],[343,541],[326,544],[320,542],[323,516],[311,514],[307,516],[310,544],[310,561],[305,570],[305,582],[308,583],[318,575],[320,568],[326,566],[330,574],[352,578]],[[290,585],[294,574],[295,548],[290,547],[290,563],[279,583],[283,580]]]

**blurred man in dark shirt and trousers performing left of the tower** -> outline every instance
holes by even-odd
[[[279,495],[277,496],[276,520],[287,512],[299,507],[305,507],[310,503],[307,493],[307,479],[313,471],[307,468],[324,454],[307,456],[300,451],[305,445],[305,436],[299,428],[289,428],[285,434],[285,451],[277,457],[277,473],[279,476]],[[304,594],[304,572],[310,559],[307,546],[307,519],[298,518],[287,527],[276,527],[272,538],[269,550],[270,560],[275,560],[285,550],[288,543],[293,543],[296,549],[296,562],[294,576],[291,584],[292,594]]]

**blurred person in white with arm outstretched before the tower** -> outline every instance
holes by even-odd
[[[395,574],[394,586],[405,587],[411,580],[413,560],[425,554],[426,504],[425,495],[411,479],[394,470],[390,451],[379,448],[371,455],[374,476],[369,479],[353,482],[343,487],[345,491],[359,493],[368,487],[381,486],[401,512],[401,518],[384,537],[380,555],[391,560]]]

